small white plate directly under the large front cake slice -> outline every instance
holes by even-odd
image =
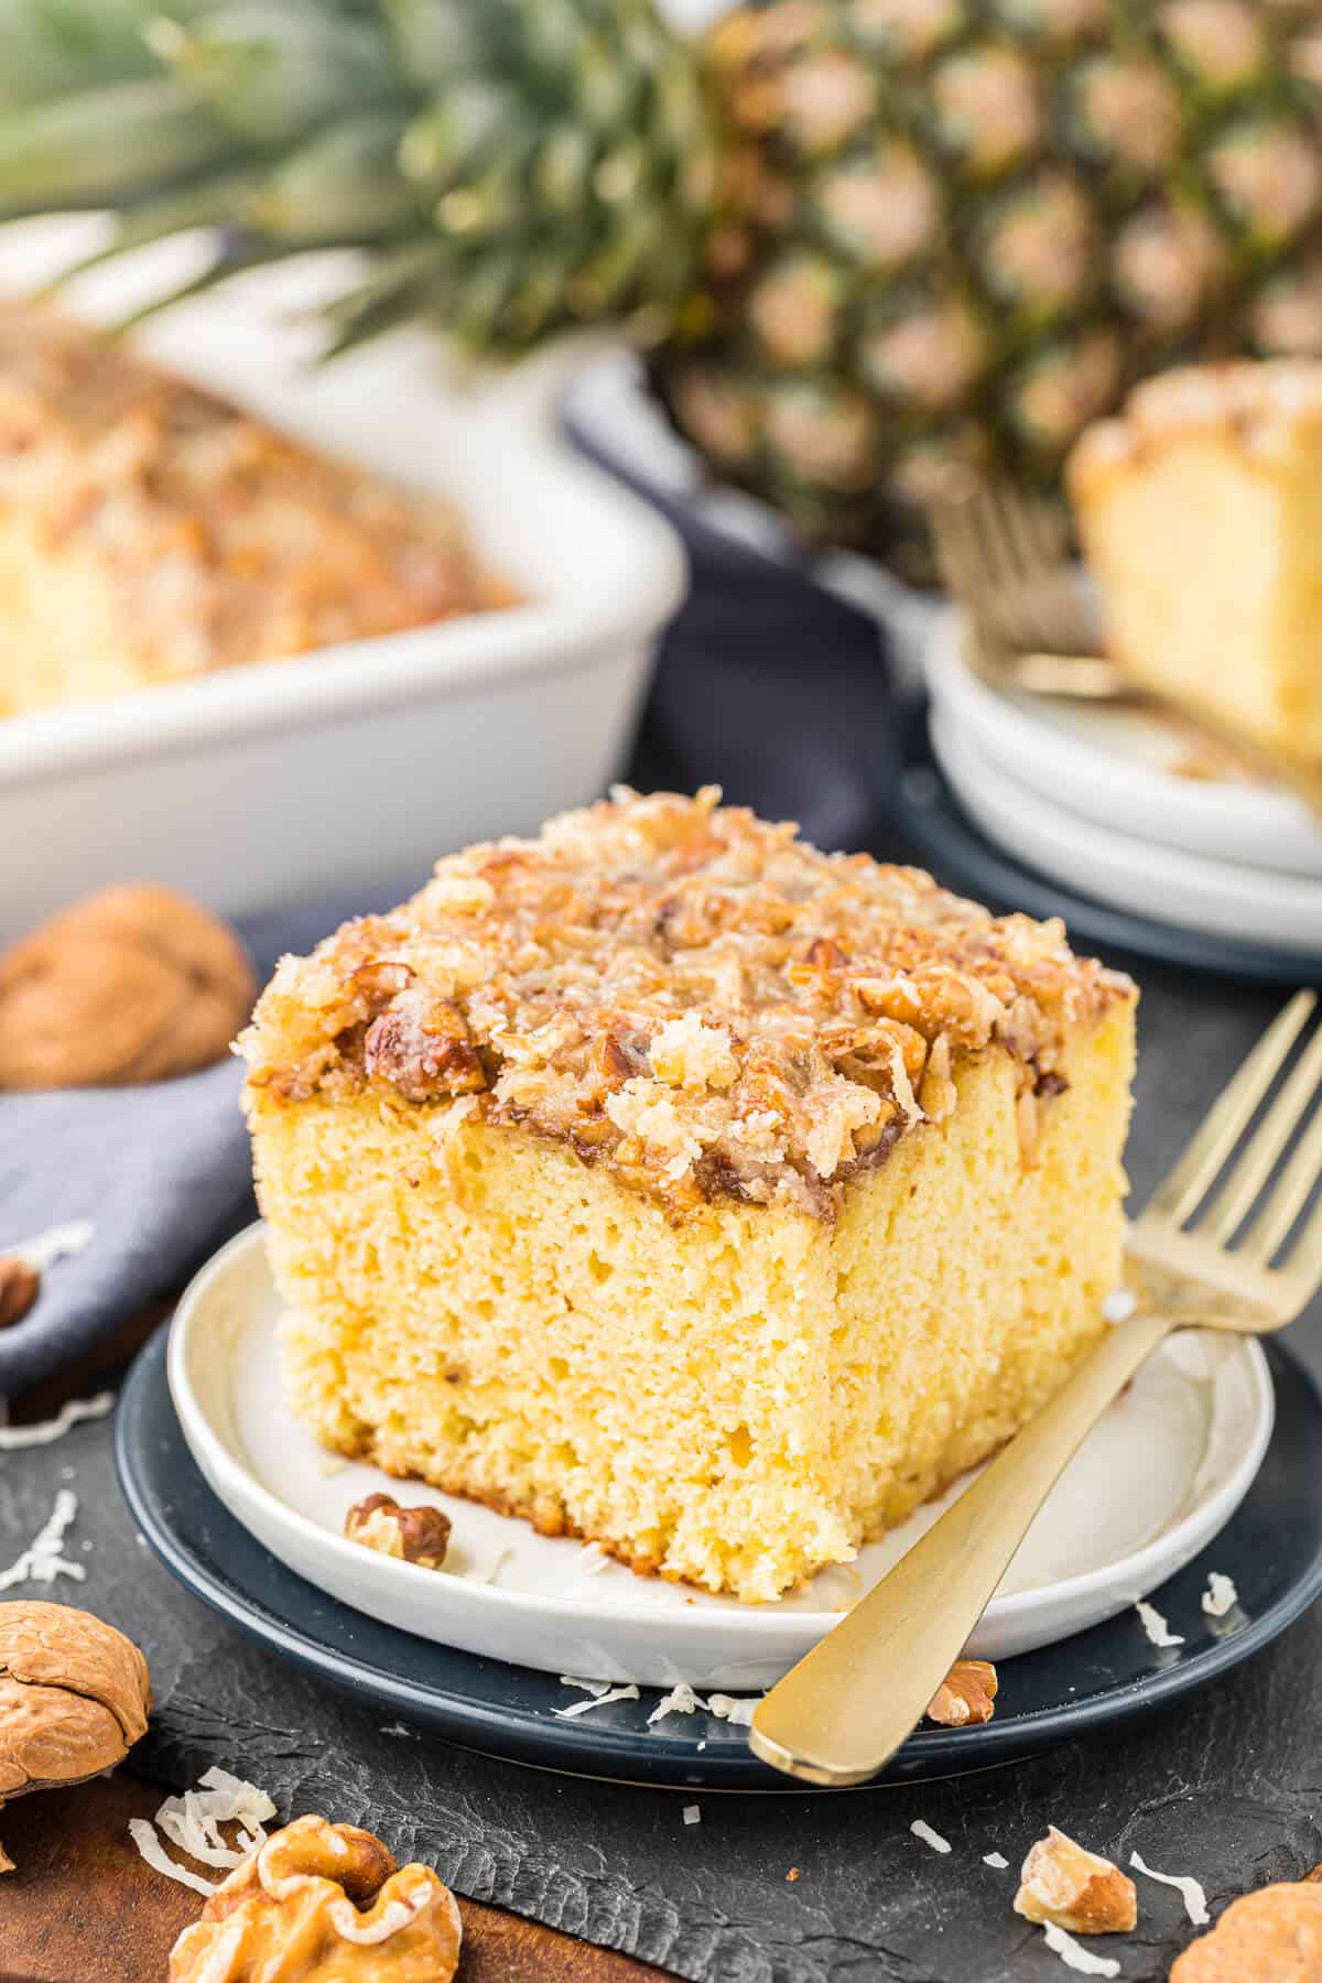
[[[343,1539],[353,1501],[400,1489],[377,1467],[339,1465],[289,1416],[277,1321],[264,1231],[252,1225],[202,1269],[174,1317],[170,1392],[194,1459],[281,1563],[345,1604],[442,1646],[551,1674],[765,1688],[947,1505],[922,1509],[856,1565],[823,1571],[793,1598],[749,1606],[603,1567],[573,1541],[410,1483],[408,1501],[444,1507],[454,1523],[450,1569],[422,1571]],[[1235,1513],[1270,1426],[1272,1390],[1257,1342],[1167,1344],[1066,1469],[973,1650],[1003,1660],[1047,1646],[1183,1569]]]

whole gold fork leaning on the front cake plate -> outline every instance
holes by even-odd
[[[1270,1335],[1308,1305],[1322,1285],[1322,1202],[1304,1216],[1322,1178],[1322,1107],[1278,1166],[1322,1093],[1322,1025],[1253,1122],[1316,1003],[1316,992],[1298,992],[1276,1015],[1132,1225],[1134,1313],[759,1701],[749,1741],[765,1763],[809,1783],[874,1777],[959,1658],[1064,1463],[1144,1358],[1177,1329]]]

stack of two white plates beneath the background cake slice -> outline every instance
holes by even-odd
[[[937,761],[987,839],[1134,916],[1322,948],[1322,823],[1288,791],[1187,775],[1189,736],[1136,708],[989,686],[953,611],[926,668]]]

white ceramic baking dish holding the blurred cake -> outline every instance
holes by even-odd
[[[2,230],[0,286],[30,282],[85,226]],[[121,311],[161,280],[137,262],[79,284],[75,307]],[[321,448],[452,496],[527,603],[0,720],[0,940],[109,880],[168,882],[226,914],[408,880],[620,769],[684,591],[678,537],[557,436],[563,363],[464,387],[418,331],[309,367],[307,303],[327,274],[246,278],[143,343]]]

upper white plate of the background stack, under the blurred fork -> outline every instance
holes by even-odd
[[[1322,878],[1322,825],[1268,785],[1179,777],[1189,740],[1156,716],[989,688],[967,666],[959,615],[926,650],[934,702],[979,754],[1029,791],[1104,829],[1241,869]],[[1041,865],[1041,863],[1039,863]],[[1322,922],[1314,922],[1316,930]]]

